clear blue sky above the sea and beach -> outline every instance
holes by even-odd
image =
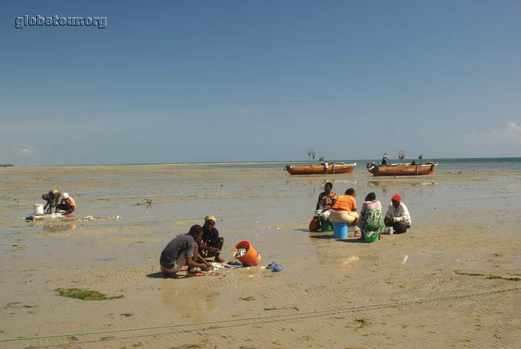
[[[521,157],[520,13],[517,0],[1,1],[0,164]],[[106,28],[15,28],[24,15]]]

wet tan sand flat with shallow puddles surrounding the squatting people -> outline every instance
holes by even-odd
[[[325,180],[337,194],[354,187],[358,207],[370,191],[383,207],[400,194],[413,227],[373,244],[309,233]],[[15,167],[0,169],[0,188],[0,340],[74,334],[0,348],[514,348],[520,340],[521,173]],[[25,222],[53,188],[74,197],[76,216],[122,220]],[[224,235],[222,257],[248,240],[259,267],[163,278],[165,244],[206,214]],[[272,261],[284,270],[260,268]],[[73,287],[124,298],[53,292]],[[181,326],[76,335],[167,325]]]

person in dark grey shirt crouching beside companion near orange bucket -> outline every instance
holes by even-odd
[[[183,266],[188,266],[186,276],[204,276],[204,273],[198,273],[195,271],[196,267],[201,270],[208,271],[212,265],[201,258],[197,251],[197,244],[195,241],[199,241],[203,235],[203,228],[201,225],[192,225],[190,232],[181,234],[170,241],[163,252],[159,263],[161,265],[161,272],[165,276],[174,276]],[[198,260],[202,260],[202,263],[198,263]]]

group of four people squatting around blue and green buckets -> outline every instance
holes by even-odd
[[[411,215],[398,194],[392,196],[386,215],[383,216],[381,203],[373,192],[365,196],[362,209],[358,213],[355,189],[349,188],[341,196],[333,193],[332,189],[333,183],[326,182],[324,191],[318,196],[310,230],[322,231],[324,226],[331,223],[347,223],[360,228],[361,232],[355,232],[356,237],[365,239],[365,235],[378,235],[381,239],[381,234],[387,227],[392,228],[396,234],[411,228]]]

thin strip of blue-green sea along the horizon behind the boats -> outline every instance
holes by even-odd
[[[355,172],[365,172],[367,162],[378,162],[381,159],[363,160],[329,160],[329,162],[352,164],[356,162]],[[406,160],[410,162],[411,160]],[[436,172],[477,172],[477,173],[521,173],[521,158],[474,158],[474,159],[426,159],[422,162],[438,162]],[[391,159],[391,163],[399,163],[400,160]],[[229,167],[233,169],[284,169],[286,164],[294,166],[304,166],[310,164],[308,161],[281,161],[281,162],[260,162],[260,163],[238,163],[238,164],[201,164],[200,167],[215,168]],[[311,161],[311,164],[320,164],[318,161]]]

